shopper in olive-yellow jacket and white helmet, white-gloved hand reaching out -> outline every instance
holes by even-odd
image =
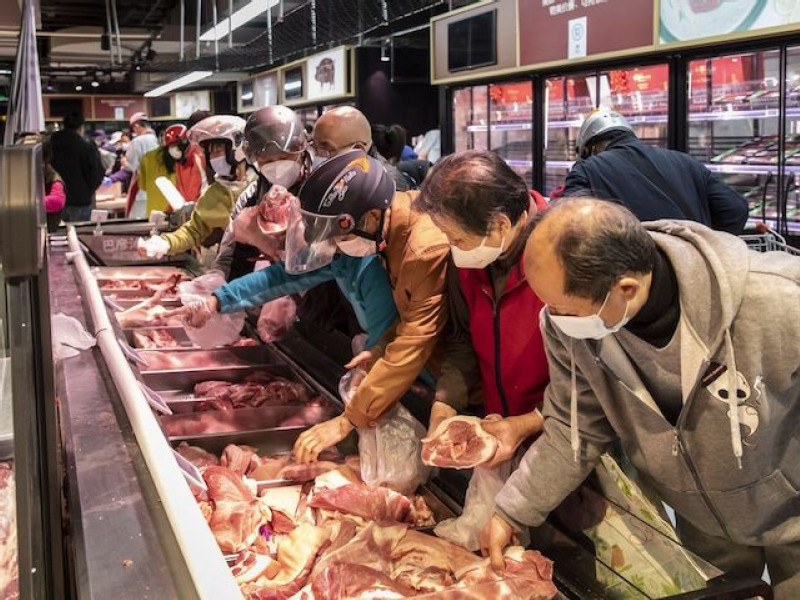
[[[246,167],[241,158],[236,158],[241,156],[244,126],[242,118],[217,115],[189,130],[186,139],[203,153],[208,178],[213,183],[197,201],[189,221],[177,231],[139,240],[142,256],[160,259],[219,243],[230,224],[234,202],[246,185]]]

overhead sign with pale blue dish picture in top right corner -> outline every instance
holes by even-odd
[[[800,23],[796,0],[661,0],[659,41],[736,36]]]

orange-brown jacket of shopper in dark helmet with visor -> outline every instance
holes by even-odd
[[[398,192],[392,202],[386,266],[400,318],[372,349],[377,361],[347,406],[347,418],[357,427],[374,426],[408,391],[447,322],[450,246],[429,217],[411,210],[415,195]]]

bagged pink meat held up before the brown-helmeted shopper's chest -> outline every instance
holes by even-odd
[[[236,217],[234,239],[255,246],[270,260],[279,260],[284,251],[289,205],[293,198],[285,188],[272,186],[257,206],[245,208]]]

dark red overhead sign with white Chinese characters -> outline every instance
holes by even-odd
[[[520,66],[653,46],[654,0],[526,0],[518,4]]]

